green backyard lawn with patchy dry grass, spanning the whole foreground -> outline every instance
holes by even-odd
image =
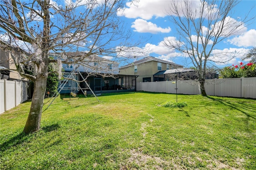
[[[188,105],[166,108],[176,95],[98,99],[58,97],[29,135],[30,102],[2,113],[0,169],[256,169],[256,100],[178,95]]]

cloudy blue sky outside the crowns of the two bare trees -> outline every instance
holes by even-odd
[[[102,0],[97,1],[102,2]],[[82,5],[86,4],[87,0],[50,0],[50,3],[53,5],[71,4],[74,2],[79,2]],[[127,0],[126,7],[117,12],[118,17],[124,21],[126,28],[128,30],[130,29],[133,33],[131,40],[134,40],[134,42],[141,42],[139,46],[133,47],[133,49],[144,52],[143,55],[132,51],[124,53],[123,55],[130,56],[128,63],[132,63],[132,60],[138,60],[150,55],[184,65],[184,67],[193,66],[188,57],[184,57],[184,55],[177,51],[168,49],[162,43],[165,39],[173,40],[177,38],[176,26],[170,22],[169,16],[166,15],[166,8],[171,2],[172,0],[134,0],[133,3],[131,3],[130,0]],[[182,1],[178,0],[178,2]],[[200,0],[191,0],[190,2],[192,3],[192,8],[198,8],[200,4]],[[218,5],[215,7],[218,8]],[[240,1],[238,6],[232,10],[232,15],[228,17],[230,20],[234,20],[234,22],[240,22],[248,13],[248,18],[256,17],[256,0]],[[57,20],[57,18],[55,19]],[[227,62],[209,62],[210,66],[211,64],[214,64],[217,67],[224,67],[232,64],[237,65],[242,61],[242,58],[244,58],[246,53],[248,53],[252,47],[256,46],[256,18],[248,23],[244,23],[243,28],[237,33],[239,34],[230,36],[214,47],[215,53],[220,54],[217,60],[226,60]],[[2,36],[2,38],[6,37]],[[118,42],[116,44],[118,44]],[[227,54],[234,53],[234,51],[236,51],[237,55],[232,59],[229,58]],[[113,59],[111,56],[102,57]],[[248,62],[248,60],[243,62]],[[120,66],[126,64],[127,62],[120,63]]]

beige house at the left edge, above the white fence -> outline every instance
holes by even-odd
[[[10,70],[7,70],[10,69]],[[16,69],[11,54],[7,51],[0,50],[0,79],[21,81],[22,77]]]

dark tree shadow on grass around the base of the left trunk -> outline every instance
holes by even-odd
[[[51,132],[53,130],[58,129],[59,127],[60,127],[60,125],[58,125],[56,123],[56,124],[48,125],[46,127],[42,127],[42,130],[44,130],[44,132]],[[21,132],[20,134],[18,134],[16,136],[13,136],[9,140],[7,140],[3,144],[1,144],[0,145],[0,151],[4,152],[5,150],[8,150],[11,147],[17,146],[18,144],[22,144],[24,142],[28,142],[31,139],[31,137],[33,137],[33,136],[34,135],[26,134],[24,132]]]

